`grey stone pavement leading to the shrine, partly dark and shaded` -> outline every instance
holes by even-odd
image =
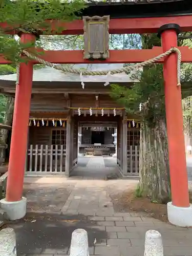
[[[17,256],[66,256],[76,228],[87,230],[90,255],[143,256],[145,232],[156,229],[162,234],[164,256],[192,256],[191,228],[163,223],[143,213],[114,210],[110,195],[136,186],[138,181],[101,180],[109,169],[97,160],[90,164],[99,179],[25,178],[27,216],[8,224],[17,234]],[[102,168],[97,167],[99,162]]]

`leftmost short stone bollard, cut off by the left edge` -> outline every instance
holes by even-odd
[[[16,236],[12,228],[4,228],[0,231],[0,255],[16,256]]]

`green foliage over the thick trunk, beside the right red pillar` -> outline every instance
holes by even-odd
[[[154,125],[157,119],[164,117],[164,88],[162,65],[154,65],[137,74],[133,87],[120,87],[112,84],[111,97],[123,105],[128,113],[140,115],[143,121]],[[139,104],[146,103],[139,111]]]

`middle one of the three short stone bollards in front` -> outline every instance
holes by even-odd
[[[88,233],[84,229],[76,229],[72,233],[70,256],[89,256]]]

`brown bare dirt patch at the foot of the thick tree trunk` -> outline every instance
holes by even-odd
[[[192,203],[192,193],[190,195],[190,203]],[[167,222],[167,205],[153,203],[148,198],[137,198],[135,189],[125,191],[118,195],[111,196],[114,209],[121,212],[137,212],[144,217],[152,217],[163,222]]]

